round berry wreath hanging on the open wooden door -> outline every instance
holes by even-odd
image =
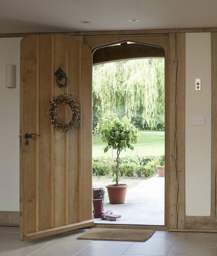
[[[54,98],[54,97],[53,97]],[[49,106],[49,119],[51,124],[57,129],[57,131],[69,131],[81,125],[81,114],[78,103],[71,94],[60,94],[50,102]],[[59,124],[57,119],[57,110],[61,105],[68,104],[72,111],[72,118],[68,124]]]

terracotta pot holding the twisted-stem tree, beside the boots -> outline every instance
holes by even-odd
[[[127,185],[120,184],[119,186],[106,186],[109,194],[109,202],[111,204],[125,203]]]

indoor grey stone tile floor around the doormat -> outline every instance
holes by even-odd
[[[19,241],[19,228],[0,227],[0,256],[217,256],[217,233],[155,231],[145,242],[77,240],[79,229]]]

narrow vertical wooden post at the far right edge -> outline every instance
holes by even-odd
[[[211,216],[217,217],[217,33],[211,33]]]

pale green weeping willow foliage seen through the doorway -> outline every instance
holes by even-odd
[[[93,72],[93,115],[97,110],[141,115],[153,129],[164,116],[164,59],[125,60],[96,65]]]

